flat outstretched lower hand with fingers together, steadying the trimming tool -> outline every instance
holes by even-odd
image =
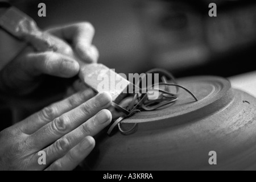
[[[93,95],[90,89],[76,93],[1,131],[0,170],[74,169],[92,151],[92,137],[112,120],[106,110],[111,96]],[[39,165],[39,151],[46,165]]]

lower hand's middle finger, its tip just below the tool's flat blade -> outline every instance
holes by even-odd
[[[108,108],[112,104],[109,93],[100,93],[75,109],[57,117],[52,122],[30,135],[32,146],[41,150],[55,142],[65,134],[76,129],[82,123],[93,117],[98,111]]]

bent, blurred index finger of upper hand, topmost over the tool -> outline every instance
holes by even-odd
[[[77,54],[86,63],[98,60],[98,50],[92,46],[94,28],[90,23],[76,23],[65,27],[52,28],[49,30],[52,35],[60,39],[72,42]]]

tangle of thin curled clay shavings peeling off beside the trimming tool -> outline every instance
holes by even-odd
[[[142,80],[147,77],[147,74],[149,73],[162,74],[163,82],[159,82],[158,84],[147,86],[147,88],[141,88],[139,85],[141,84]],[[168,83],[168,81],[172,81],[174,82],[174,84]],[[191,94],[191,96],[196,101],[198,101],[196,96],[190,90],[188,90],[184,86],[177,84],[174,76],[172,76],[170,72],[164,69],[159,69],[159,68],[151,69],[150,71],[146,72],[145,76],[141,77],[141,79],[135,85],[140,89],[141,93],[134,94],[133,100],[131,100],[130,104],[126,107],[126,109],[113,103],[113,106],[117,110],[122,111],[122,113],[124,113],[125,115],[123,115],[122,117],[119,117],[114,121],[114,123],[110,126],[108,130],[109,135],[112,133],[113,129],[116,126],[118,126],[119,131],[124,135],[129,135],[131,133],[134,133],[135,130],[137,129],[138,123],[134,123],[133,127],[131,127],[129,130],[123,130],[122,129],[123,119],[127,117],[131,117],[131,115],[141,112],[142,110],[152,111],[152,110],[163,108],[164,106],[167,106],[170,104],[175,104],[175,102],[178,100],[177,94],[179,93],[179,88],[184,89],[186,92]],[[158,86],[163,85],[164,89],[155,88],[156,85]],[[171,93],[170,86],[175,86],[176,94]],[[145,89],[146,89],[146,93],[143,93],[142,91],[144,91]],[[160,94],[158,98],[156,98],[155,100],[148,99],[148,95],[150,95],[149,93],[150,91],[159,92]]]

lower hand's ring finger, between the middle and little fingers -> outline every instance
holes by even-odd
[[[87,136],[94,136],[102,129],[110,124],[112,121],[112,114],[109,110],[101,110],[94,117],[83,123],[77,129],[71,131],[64,137],[57,140],[51,146],[47,147],[44,151],[47,154],[47,163],[51,164],[53,161],[61,158],[71,148],[75,147],[82,139]]]

